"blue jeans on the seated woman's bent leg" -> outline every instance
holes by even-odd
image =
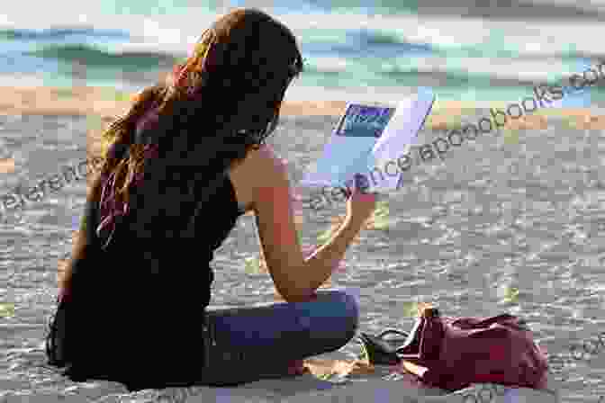
[[[202,384],[227,386],[281,377],[288,363],[329,353],[357,333],[359,310],[344,291],[259,307],[206,310],[209,354]]]

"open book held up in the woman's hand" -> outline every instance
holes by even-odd
[[[347,103],[321,158],[302,177],[308,187],[351,187],[366,177],[366,192],[397,190],[402,170],[397,160],[409,153],[435,102],[429,88],[403,99],[396,108]]]

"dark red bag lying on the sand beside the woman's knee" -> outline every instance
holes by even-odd
[[[407,336],[394,349],[380,336],[362,334],[362,341],[371,363],[400,364],[423,383],[444,390],[483,382],[546,388],[546,356],[525,323],[509,314],[446,318],[438,309],[424,308]]]

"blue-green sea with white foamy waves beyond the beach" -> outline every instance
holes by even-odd
[[[24,0],[0,14],[0,84],[138,90],[236,6],[297,36],[306,71],[287,99],[396,101],[430,86],[440,100],[514,101],[603,59],[603,0]],[[566,102],[602,103],[604,81]]]

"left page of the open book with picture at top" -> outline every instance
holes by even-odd
[[[321,157],[303,176],[305,186],[343,186],[366,172],[368,155],[375,146],[395,108],[347,103],[345,113],[333,130]]]

